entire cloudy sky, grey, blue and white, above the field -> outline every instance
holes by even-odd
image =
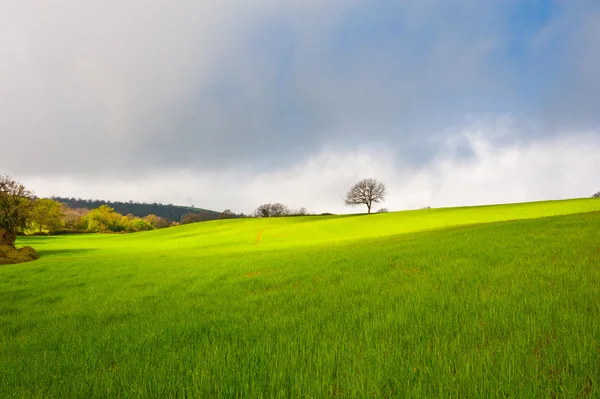
[[[597,0],[0,0],[0,174],[251,212],[600,190]]]

